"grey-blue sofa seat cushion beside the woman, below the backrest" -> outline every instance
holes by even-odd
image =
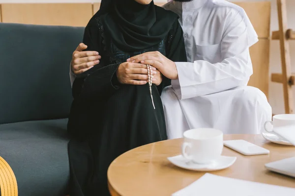
[[[19,196],[65,196],[67,119],[0,124],[0,156],[12,168]]]

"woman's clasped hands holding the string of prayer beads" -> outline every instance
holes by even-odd
[[[153,74],[156,75],[155,69],[152,70]],[[116,74],[121,84],[144,85],[148,81],[147,65],[140,63],[121,63]]]

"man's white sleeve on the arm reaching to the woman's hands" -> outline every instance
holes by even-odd
[[[172,86],[179,99],[204,96],[248,84],[253,73],[250,44],[247,26],[239,15],[224,32],[220,47],[221,62],[176,62],[178,79],[172,80]]]

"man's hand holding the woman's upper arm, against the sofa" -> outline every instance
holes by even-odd
[[[83,51],[85,49],[87,49],[87,46],[81,43],[73,52],[71,70],[76,75],[86,72],[94,65],[97,65],[99,63],[99,59],[101,58],[97,51]]]

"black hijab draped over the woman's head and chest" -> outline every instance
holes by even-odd
[[[106,33],[122,51],[147,49],[159,44],[177,20],[177,15],[151,1],[102,0],[100,10]],[[95,14],[95,15],[96,15]]]

